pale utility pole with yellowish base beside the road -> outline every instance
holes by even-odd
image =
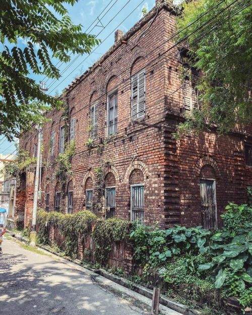
[[[40,90],[46,92],[45,82],[40,81]],[[37,163],[36,163],[36,173],[35,173],[35,183],[34,183],[34,195],[33,195],[33,210],[32,210],[32,231],[30,233],[30,245],[36,246],[36,219],[37,219],[37,207],[38,207],[38,195],[41,195],[39,192],[40,189],[40,172],[41,172],[41,140],[42,140],[42,127],[40,124],[36,125],[38,131],[38,144],[37,144]]]

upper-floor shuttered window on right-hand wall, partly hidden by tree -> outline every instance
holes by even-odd
[[[183,83],[183,106],[186,112],[199,108],[198,90],[196,89],[197,74],[191,71],[191,76],[185,76]]]

